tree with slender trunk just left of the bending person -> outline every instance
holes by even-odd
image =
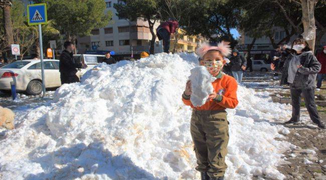
[[[117,15],[129,20],[137,20],[138,17],[148,22],[149,30],[152,35],[150,40],[149,53],[154,53],[154,43],[156,34],[154,24],[159,20],[159,3],[157,0],[122,0],[123,3],[114,4]]]

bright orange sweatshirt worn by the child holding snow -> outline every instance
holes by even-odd
[[[200,107],[194,107],[190,101],[190,96],[183,94],[183,102],[197,110],[221,110],[226,108],[235,108],[238,105],[238,84],[235,78],[231,77],[230,75],[220,73],[217,75],[217,79],[212,82],[212,85],[214,87],[214,91],[217,93],[217,97],[215,99],[207,101]]]

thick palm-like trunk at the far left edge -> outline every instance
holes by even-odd
[[[4,15],[4,28],[6,34],[5,38],[8,47],[10,47],[10,45],[14,43],[13,23],[10,14],[11,6],[12,6],[12,0],[0,0],[0,7],[3,9],[3,15]]]

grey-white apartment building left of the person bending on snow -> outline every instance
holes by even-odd
[[[116,54],[140,54],[141,51],[149,51],[152,35],[147,21],[138,18],[136,21],[120,18],[113,7],[114,3],[122,3],[121,0],[105,0],[106,11],[112,11],[112,22],[103,28],[91,31],[90,36],[77,38],[78,53],[89,50],[113,50]],[[159,25],[156,22],[154,28]],[[156,30],[155,30],[156,31]],[[162,52],[162,44],[156,37],[154,51]]]

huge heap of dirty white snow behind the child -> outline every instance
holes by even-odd
[[[3,179],[196,179],[191,109],[181,95],[195,54],[150,55],[99,64],[81,83],[65,84],[37,108],[17,111],[16,129],[0,136]],[[228,109],[226,179],[283,179],[276,166],[294,147],[289,105],[239,86]]]

